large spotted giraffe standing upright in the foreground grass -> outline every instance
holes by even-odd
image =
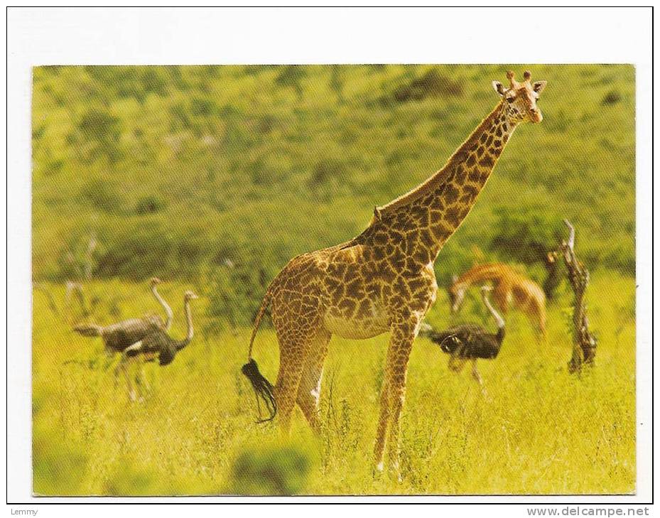
[[[318,432],[323,362],[332,334],[366,339],[389,332],[374,465],[399,471],[399,419],[408,362],[422,319],[436,300],[433,264],[484,187],[504,146],[522,122],[541,122],[536,99],[545,81],[524,82],[507,72],[509,87],[494,81],[500,100],[446,165],[409,193],[374,208],[367,228],[334,247],[291,259],[266,288],[254,320],[248,362],[242,372],[288,433],[298,404]],[[273,386],[252,359],[252,345],[271,307],[280,363]]]

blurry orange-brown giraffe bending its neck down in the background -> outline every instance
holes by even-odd
[[[541,286],[502,263],[480,264],[470,268],[460,277],[454,276],[447,289],[451,312],[456,313],[465,298],[465,292],[473,284],[491,281],[494,284],[493,300],[504,315],[509,306],[519,309],[539,330],[546,335],[546,295]]]

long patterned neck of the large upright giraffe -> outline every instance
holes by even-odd
[[[435,260],[475,204],[515,127],[504,101],[499,102],[440,171],[377,208],[379,221],[406,234],[418,231],[415,253],[421,256],[423,249],[429,260]]]

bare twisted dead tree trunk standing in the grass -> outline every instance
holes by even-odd
[[[587,307],[585,305],[585,291],[589,284],[589,271],[575,256],[575,228],[568,220],[564,220],[568,227],[568,241],[561,243],[559,252],[563,255],[568,271],[575,301],[573,302],[573,357],[568,362],[568,372],[580,372],[583,365],[593,365],[596,357],[596,339],[589,331]]]

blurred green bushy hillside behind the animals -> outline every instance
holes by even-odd
[[[352,237],[443,166],[507,68],[36,68],[34,278],[87,266],[212,282],[254,311],[288,259]],[[485,259],[542,280],[518,241],[556,239],[564,217],[590,268],[634,274],[634,68],[511,68],[548,80],[543,123],[516,131],[440,253],[439,282]]]

